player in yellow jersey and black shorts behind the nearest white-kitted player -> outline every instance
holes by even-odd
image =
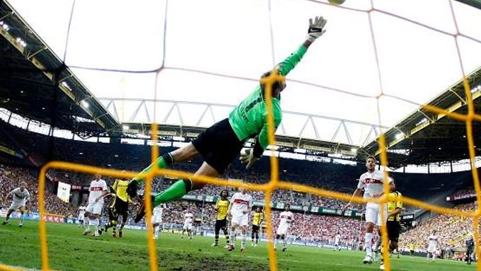
[[[389,252],[393,253],[398,250],[399,233],[401,231],[401,212],[402,212],[402,195],[396,191],[394,179],[389,183],[390,194],[388,195],[388,238]],[[399,258],[399,252],[398,252]],[[381,258],[381,270],[384,270],[383,259]]]

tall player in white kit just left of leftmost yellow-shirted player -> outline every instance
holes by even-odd
[[[95,232],[92,236],[99,236],[98,233],[98,224],[100,224],[99,217],[102,214],[103,208],[103,196],[108,194],[108,187],[105,180],[102,180],[102,175],[95,174],[95,180],[91,182],[90,187],[88,188],[88,205],[85,210],[84,219],[83,219],[83,226],[85,227],[85,231],[83,231],[83,235],[87,235],[91,232],[89,221],[91,219],[91,214],[93,215],[92,224],[95,226]],[[96,201],[98,197],[100,200]]]

